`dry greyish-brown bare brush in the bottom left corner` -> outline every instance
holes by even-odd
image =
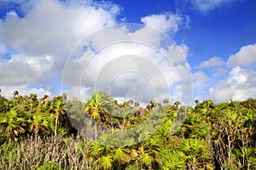
[[[86,139],[28,137],[0,146],[0,169],[91,169]]]

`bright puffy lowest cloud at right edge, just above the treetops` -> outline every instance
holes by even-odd
[[[256,97],[256,72],[234,67],[227,80],[218,82],[209,88],[209,98],[220,103],[232,100],[244,100]]]

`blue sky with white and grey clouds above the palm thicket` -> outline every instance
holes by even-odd
[[[87,100],[256,98],[256,1],[2,0],[0,88]]]

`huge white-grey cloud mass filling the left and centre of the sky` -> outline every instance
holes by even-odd
[[[119,99],[136,89],[143,94],[138,99],[148,102],[170,92],[177,99],[182,92],[178,83],[191,81],[189,48],[163,42],[166,35],[160,32],[174,34],[188,26],[177,14],[145,16],[146,26],[108,27],[119,13],[112,3],[40,0],[28,6],[24,16],[13,10],[1,20],[0,87],[5,94],[15,89],[20,94],[55,94],[60,87],[52,87],[63,82],[62,91],[70,98],[87,100],[102,89]]]

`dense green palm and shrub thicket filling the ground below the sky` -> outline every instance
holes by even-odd
[[[256,99],[143,108],[15,91],[0,95],[0,169],[255,169],[255,114]]]

